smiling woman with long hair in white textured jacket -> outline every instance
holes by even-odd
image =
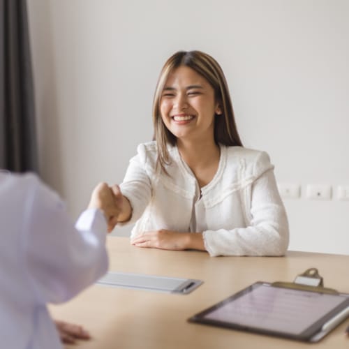
[[[154,140],[140,144],[117,189],[131,243],[209,255],[283,255],[288,219],[265,151],[237,132],[223,70],[200,51],[165,62]]]

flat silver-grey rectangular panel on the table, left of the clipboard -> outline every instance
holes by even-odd
[[[198,288],[201,280],[170,278],[148,274],[132,274],[121,272],[107,272],[97,281],[98,285],[109,287],[132,288],[134,290],[147,290],[157,292],[177,293],[188,295]]]

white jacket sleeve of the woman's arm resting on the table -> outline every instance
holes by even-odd
[[[258,173],[260,174],[260,173]],[[209,255],[284,255],[288,248],[288,218],[272,169],[260,174],[251,188],[246,228],[203,232]]]

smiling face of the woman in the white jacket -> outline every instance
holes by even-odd
[[[181,140],[214,138],[214,114],[221,114],[209,82],[187,66],[179,66],[165,82],[160,100],[161,118]]]

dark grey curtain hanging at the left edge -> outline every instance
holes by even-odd
[[[26,0],[0,0],[0,168],[38,172]]]

